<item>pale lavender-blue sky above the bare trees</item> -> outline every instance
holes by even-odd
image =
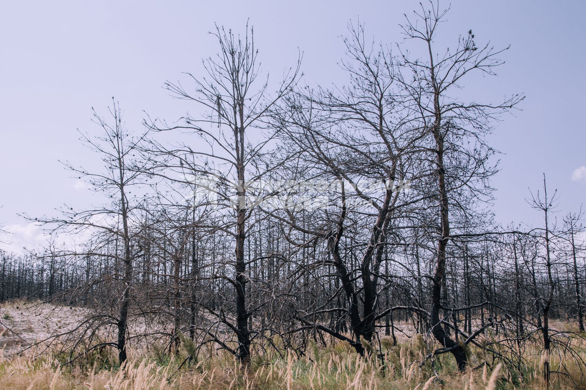
[[[250,4],[253,3],[253,4]],[[443,2],[447,5],[448,2]],[[16,216],[52,213],[63,202],[84,205],[92,195],[57,159],[92,165],[77,131],[97,130],[91,107],[106,113],[111,96],[120,101],[128,127],[141,129],[142,110],[173,119],[188,109],[161,88],[166,80],[198,73],[200,59],[216,53],[207,32],[213,23],[255,29],[263,69],[278,78],[304,52],[309,84],[345,82],[336,62],[340,36],[350,19],[366,23],[367,35],[393,43],[398,23],[417,1],[3,1],[0,3],[0,221],[15,232],[15,246],[35,242],[34,229]],[[467,96],[497,101],[527,95],[523,111],[506,116],[491,138],[503,151],[497,219],[538,223],[524,202],[541,173],[560,191],[561,206],[574,211],[586,199],[584,1],[451,2],[438,44],[454,46],[472,29],[479,43],[511,45],[499,77],[478,78]],[[560,215],[561,217],[561,215]]]

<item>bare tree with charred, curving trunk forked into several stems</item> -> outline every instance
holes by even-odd
[[[363,354],[363,342],[373,341],[377,320],[391,313],[379,311],[381,294],[391,282],[389,275],[381,272],[381,265],[389,261],[384,254],[388,253],[387,240],[397,237],[393,230],[396,220],[406,214],[406,205],[414,202],[400,195],[423,132],[404,126],[405,113],[394,95],[389,51],[382,44],[367,43],[362,25],[350,25],[349,31],[350,37],[344,40],[347,60],[342,64],[350,84],[333,91],[299,91],[297,97],[289,98],[278,118],[280,126],[287,129],[288,149],[299,153],[295,165],[312,167],[306,178],[337,183],[327,194],[333,198],[331,209],[324,209],[320,219],[312,217],[311,226],[302,226],[299,220],[303,213],[291,210],[277,218],[309,237],[325,240],[331,259],[322,264],[335,269],[336,283],[340,284],[326,304],[340,291],[347,303],[347,308],[321,307],[308,312],[302,322],[349,341]],[[291,171],[292,167],[286,169]],[[361,230],[358,226],[368,227]],[[358,251],[362,258],[355,262]],[[340,320],[349,320],[354,339],[340,333],[335,324],[319,323],[315,316],[328,312],[338,312]]]

